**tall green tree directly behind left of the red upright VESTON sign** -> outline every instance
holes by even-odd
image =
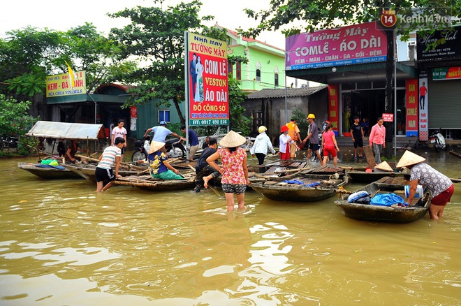
[[[154,0],[154,3],[163,1]],[[110,17],[129,18],[131,23],[122,29],[112,29],[110,38],[124,45],[122,57],[138,57],[147,66],[131,75],[137,80],[131,89],[129,105],[137,105],[159,98],[163,105],[173,101],[181,122],[184,115],[180,109],[184,101],[184,31],[200,33],[206,27],[202,21],[212,16],[199,17],[202,3],[197,0],[180,3],[166,9],[160,7],[125,8]],[[128,105],[126,105],[128,106]]]

